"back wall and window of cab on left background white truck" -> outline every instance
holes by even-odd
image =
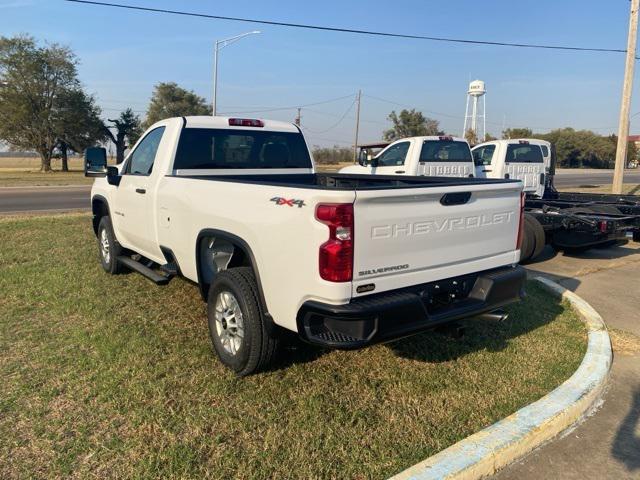
[[[430,177],[473,177],[474,166],[469,144],[453,137],[422,142],[416,175]]]

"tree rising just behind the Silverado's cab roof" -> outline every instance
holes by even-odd
[[[154,87],[144,126],[148,128],[165,118],[186,115],[211,115],[211,105],[176,83],[159,83]]]

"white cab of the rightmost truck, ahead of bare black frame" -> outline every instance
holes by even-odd
[[[478,178],[521,180],[529,196],[542,198],[551,168],[551,144],[537,139],[494,140],[472,150]]]

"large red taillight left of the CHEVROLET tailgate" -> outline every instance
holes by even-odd
[[[353,278],[353,204],[321,203],[316,219],[329,227],[329,240],[320,245],[320,277],[329,282]]]

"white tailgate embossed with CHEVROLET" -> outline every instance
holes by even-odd
[[[353,296],[517,263],[521,188],[493,183],[358,191]]]

